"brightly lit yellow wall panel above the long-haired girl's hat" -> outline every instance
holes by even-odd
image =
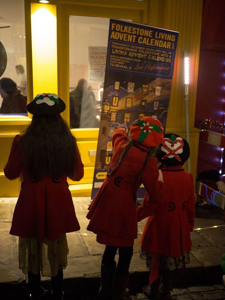
[[[58,93],[56,5],[31,3],[33,94]]]

